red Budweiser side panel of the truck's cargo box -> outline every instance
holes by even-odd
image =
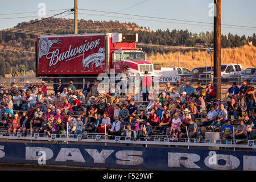
[[[38,75],[105,72],[105,34],[38,36],[36,43]]]

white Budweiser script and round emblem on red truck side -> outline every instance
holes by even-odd
[[[42,56],[46,56],[49,60],[49,67],[52,65],[56,65],[61,61],[69,61],[72,60],[75,56],[80,57],[83,56],[86,51],[93,50],[100,46],[100,39],[97,39],[92,42],[84,41],[79,47],[73,47],[73,45],[69,45],[68,51],[61,52],[59,48],[49,52],[49,48],[53,44],[62,44],[60,39],[48,40],[48,38],[40,38],[39,40],[39,60]],[[101,60],[101,59],[100,59]]]

